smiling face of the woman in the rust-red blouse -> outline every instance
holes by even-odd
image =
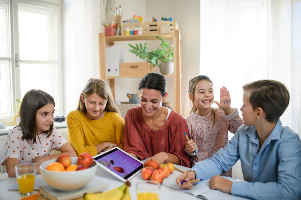
[[[146,116],[153,116],[161,110],[162,102],[165,102],[167,92],[161,96],[161,92],[154,89],[141,89],[140,90],[140,104]]]

